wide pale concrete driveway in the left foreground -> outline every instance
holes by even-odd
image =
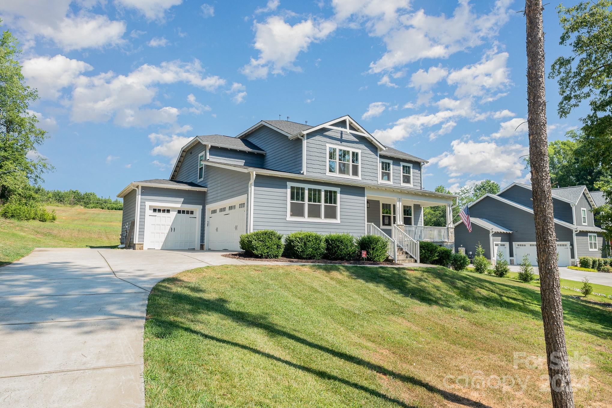
[[[144,406],[151,287],[246,263],[221,254],[41,248],[0,268],[0,407]]]

